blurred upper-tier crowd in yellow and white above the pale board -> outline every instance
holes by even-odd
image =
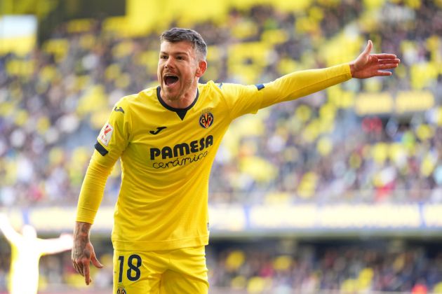
[[[202,83],[265,83],[354,59],[370,38],[395,52],[389,78],[351,80],[236,120],[215,159],[211,202],[441,202],[441,1],[313,1],[302,11],[232,8],[198,22]],[[86,25],[85,25],[86,24]],[[173,24],[171,24],[173,25]],[[0,206],[76,204],[112,105],[156,85],[159,36],[69,22],[26,56],[0,56]],[[356,111],[359,93],[431,97],[427,109]],[[382,107],[381,107],[382,108]],[[104,202],[113,204],[116,165]]]

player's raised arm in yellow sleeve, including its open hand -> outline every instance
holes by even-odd
[[[258,109],[307,96],[342,83],[350,78],[371,78],[391,76],[401,62],[394,54],[370,54],[373,43],[352,62],[331,66],[325,69],[295,71],[262,85],[234,85],[225,83],[220,87],[232,120],[246,113],[256,113]]]

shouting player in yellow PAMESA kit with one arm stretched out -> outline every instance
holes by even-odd
[[[393,54],[297,71],[271,83],[199,84],[206,43],[191,29],[160,38],[159,86],[123,97],[98,135],[81,187],[72,262],[91,282],[90,262],[102,267],[89,240],[107,176],[121,158],[121,190],[114,211],[113,293],[208,293],[208,178],[232,120],[323,90],[350,78],[389,76]]]

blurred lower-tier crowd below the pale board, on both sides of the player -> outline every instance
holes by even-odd
[[[93,283],[88,288],[109,289],[112,245],[108,240],[95,243],[100,245],[95,248],[105,267],[91,267]],[[8,279],[4,257],[0,291],[6,290]],[[442,293],[442,251],[437,243],[259,239],[227,244],[215,240],[206,258],[210,288],[219,293]],[[68,252],[41,258],[40,289],[57,287],[86,287],[83,277],[74,272]]]

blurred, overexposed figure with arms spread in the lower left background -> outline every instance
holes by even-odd
[[[6,215],[0,214],[0,231],[11,243],[12,260],[9,272],[9,293],[35,294],[39,288],[41,255],[59,253],[72,248],[72,235],[39,239],[32,225],[24,225],[22,234],[16,232]]]

